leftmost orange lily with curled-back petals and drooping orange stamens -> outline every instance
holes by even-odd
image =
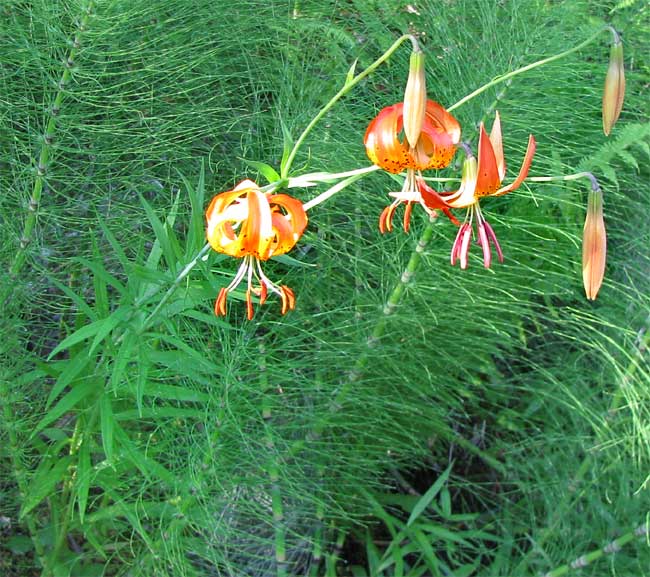
[[[282,299],[282,314],[293,310],[296,302],[293,291],[269,280],[262,271],[261,261],[285,254],[295,246],[307,226],[302,203],[287,194],[264,193],[252,180],[244,180],[233,190],[217,194],[205,216],[210,246],[217,252],[243,259],[235,278],[219,292],[215,314],[226,314],[228,293],[244,277],[248,280],[248,320],[253,318],[252,295],[264,304],[269,290]],[[253,277],[258,287],[253,288]]]

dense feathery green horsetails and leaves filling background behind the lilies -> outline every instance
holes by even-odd
[[[595,552],[581,575],[649,575],[647,536],[629,535],[650,513],[648,14],[634,1],[3,2],[0,573],[560,575]],[[203,245],[208,200],[258,176],[243,158],[277,167],[281,121],[295,138],[355,59],[422,33],[429,95],[450,105],[604,23],[623,35],[628,80],[609,139],[606,34],[455,111],[475,143],[498,106],[511,167],[532,132],[532,174],[599,178],[596,302],[580,274],[588,184],[531,183],[484,203],[503,265],[483,269],[474,250],[451,268],[456,231],[439,222],[384,315],[426,222],[414,211],[408,235],[381,236],[396,185],[377,173],[315,208],[292,259],[269,263],[294,312],[272,303],[247,322],[233,300],[216,319],[236,263],[214,254],[157,309]],[[341,101],[295,169],[366,165],[365,127],[401,100],[407,66],[404,48]]]

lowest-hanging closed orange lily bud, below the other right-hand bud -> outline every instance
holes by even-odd
[[[582,235],[582,281],[589,300],[596,300],[600,285],[603,284],[606,257],[607,234],[603,220],[603,193],[600,188],[594,187],[589,192]]]

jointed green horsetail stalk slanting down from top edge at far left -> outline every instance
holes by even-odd
[[[91,0],[88,2],[88,6],[86,7],[84,15],[77,28],[77,33],[75,34],[72,48],[70,49],[70,52],[64,61],[65,68],[59,80],[58,91],[54,98],[52,108],[50,109],[50,118],[45,128],[45,134],[43,135],[43,144],[41,146],[41,152],[38,157],[38,165],[36,167],[36,178],[34,179],[32,195],[29,199],[29,204],[27,205],[27,218],[25,219],[25,224],[23,225],[23,233],[20,237],[20,245],[10,268],[12,275],[17,275],[25,264],[25,251],[32,240],[32,233],[34,232],[34,227],[36,226],[38,209],[41,203],[41,196],[43,194],[43,186],[45,185],[45,175],[47,174],[47,170],[49,168],[52,142],[54,141],[54,135],[56,132],[56,119],[61,112],[65,87],[72,77],[72,68],[74,67],[75,59],[77,57],[79,47],[81,46],[81,33],[86,29],[92,8],[93,2]]]

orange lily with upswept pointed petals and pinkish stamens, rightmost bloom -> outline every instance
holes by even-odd
[[[467,268],[467,256],[472,238],[474,217],[476,217],[478,243],[483,249],[483,264],[485,268],[490,268],[492,263],[490,243],[494,245],[497,251],[499,262],[503,262],[503,252],[494,234],[494,230],[483,217],[479,200],[484,196],[501,196],[519,188],[528,176],[536,146],[535,137],[531,134],[528,137],[528,148],[526,149],[526,155],[519,169],[519,175],[511,184],[501,186],[506,174],[506,163],[503,156],[501,118],[499,113],[496,113],[489,137],[483,123],[481,123],[478,161],[470,152],[463,165],[460,188],[454,192],[440,193],[442,199],[451,208],[467,208],[465,222],[458,230],[456,240],[451,249],[452,266],[459,259],[460,267],[462,269]]]

